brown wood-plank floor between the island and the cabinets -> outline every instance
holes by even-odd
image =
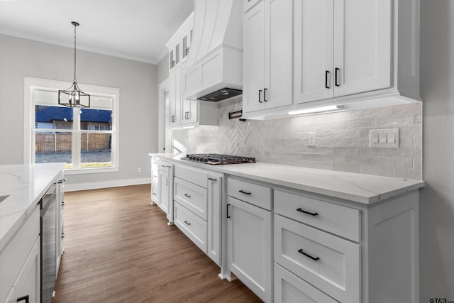
[[[53,303],[261,302],[150,205],[150,184],[65,193]]]

